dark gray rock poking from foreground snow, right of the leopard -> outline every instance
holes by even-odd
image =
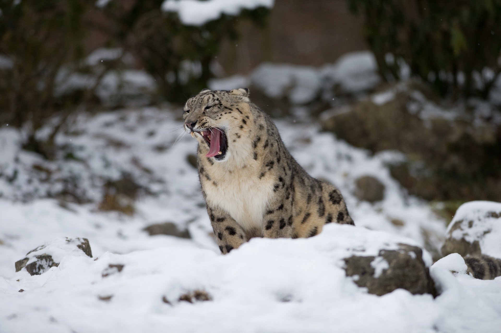
[[[429,293],[436,296],[435,284],[430,277],[417,246],[398,244],[398,250],[379,251],[378,256],[351,256],[345,258],[347,276],[366,287],[369,293],[384,295],[397,288],[412,294]]]

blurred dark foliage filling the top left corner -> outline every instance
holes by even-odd
[[[33,131],[67,107],[54,94],[65,64],[82,59],[85,0],[0,2],[0,55],[12,67],[0,69],[0,122]],[[75,102],[82,101],[83,96]],[[30,137],[29,140],[34,140]]]

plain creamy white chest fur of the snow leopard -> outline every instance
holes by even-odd
[[[263,226],[263,214],[273,194],[273,181],[259,179],[250,168],[231,173],[217,168],[211,177],[217,186],[204,186],[210,205],[224,209],[244,231]]]

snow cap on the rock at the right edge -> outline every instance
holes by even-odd
[[[470,201],[457,209],[447,228],[447,233],[450,233],[453,238],[464,238],[470,243],[478,240],[482,254],[501,258],[500,222],[501,203]],[[458,223],[460,223],[460,228],[451,232],[454,224]]]

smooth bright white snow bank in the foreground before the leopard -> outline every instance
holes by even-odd
[[[433,299],[401,289],[370,295],[346,276],[342,258],[398,242],[412,243],[331,224],[309,239],[255,238],[225,256],[194,246],[69,254],[42,275],[0,278],[0,317],[10,332],[494,332],[501,324],[492,294],[500,279],[473,283],[432,266],[443,290]],[[194,290],[211,300],[179,301]]]

